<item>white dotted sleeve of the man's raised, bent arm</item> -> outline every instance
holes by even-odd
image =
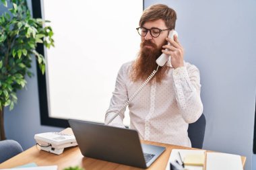
[[[188,69],[187,69],[188,68]],[[179,110],[185,122],[191,124],[203,113],[203,103],[200,97],[200,75],[194,65],[174,69],[174,93]]]

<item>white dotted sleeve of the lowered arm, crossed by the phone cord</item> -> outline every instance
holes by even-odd
[[[112,119],[115,114],[119,113],[119,110],[121,110],[128,99],[127,87],[125,85],[125,70],[125,65],[123,65],[117,75],[115,90],[113,91],[113,95],[110,99],[109,108],[106,110],[105,124]],[[125,128],[123,118],[125,118],[125,109],[123,109],[120,114],[108,125]]]

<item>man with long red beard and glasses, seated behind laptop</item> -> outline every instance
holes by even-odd
[[[129,102],[130,128],[137,130],[143,140],[191,146],[187,128],[203,112],[201,85],[197,67],[183,61],[184,50],[178,37],[167,38],[175,28],[176,19],[176,12],[166,5],[152,5],[143,11],[137,28],[141,36],[139,54],[135,61],[125,63],[119,70],[105,123],[119,113],[156,70],[156,59],[164,52],[170,55],[166,65],[159,67],[150,83]],[[109,125],[125,127],[124,112],[121,110]]]

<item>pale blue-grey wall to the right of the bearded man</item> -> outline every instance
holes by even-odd
[[[148,0],[177,11],[185,60],[201,73],[207,119],[203,148],[247,157],[252,168],[256,85],[256,1]]]

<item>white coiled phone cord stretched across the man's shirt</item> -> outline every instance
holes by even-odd
[[[159,65],[158,65],[158,67],[159,67]],[[154,71],[151,73],[151,75],[148,77],[148,79],[146,79],[146,81],[144,81],[144,82],[142,83],[142,85],[139,87],[139,89],[137,89],[137,91],[135,91],[135,93],[133,93],[133,95],[131,96],[131,98],[128,99],[128,100],[125,102],[125,104],[122,106],[122,108],[119,110],[119,112],[117,112],[117,113],[115,114],[115,116],[113,116],[113,118],[111,118],[110,120],[108,120],[108,122],[106,122],[106,125],[110,124],[115,118],[117,118],[117,116],[119,116],[119,115],[121,114],[121,112],[126,108],[126,106],[129,105],[129,103],[130,103],[131,101],[133,101],[133,99],[136,97],[136,95],[143,89],[143,87],[144,87],[145,85],[148,84],[148,82],[152,79],[152,77],[154,77],[154,75],[156,74],[156,72],[158,72],[158,67],[156,68],[156,70],[154,70]],[[107,116],[107,114],[106,114],[106,116]]]

